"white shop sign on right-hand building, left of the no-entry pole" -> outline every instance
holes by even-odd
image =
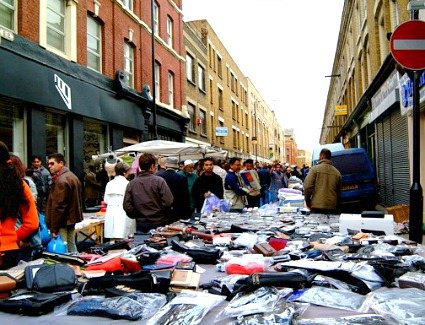
[[[372,97],[372,112],[370,113],[370,122],[376,120],[382,113],[399,100],[397,87],[399,75],[397,71],[388,77],[381,85],[378,91]]]

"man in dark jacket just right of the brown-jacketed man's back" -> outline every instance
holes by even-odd
[[[173,204],[167,212],[168,218],[172,221],[187,219],[192,215],[187,178],[177,173],[179,162],[175,157],[167,157],[165,168],[165,171],[157,173],[157,176],[165,179],[174,197]]]

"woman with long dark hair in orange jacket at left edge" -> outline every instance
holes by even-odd
[[[3,270],[18,264],[20,242],[38,229],[35,201],[20,172],[10,159],[6,144],[0,141],[0,269]],[[22,224],[15,229],[18,216]]]

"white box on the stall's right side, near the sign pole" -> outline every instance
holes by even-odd
[[[362,218],[360,214],[342,213],[339,218],[339,232],[346,234],[348,229],[357,232],[364,230],[384,231],[386,235],[394,235],[394,219],[391,214],[384,218]]]

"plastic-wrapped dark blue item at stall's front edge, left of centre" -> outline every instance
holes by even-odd
[[[113,298],[84,297],[71,303],[67,314],[141,320],[153,316],[166,302],[166,296],[159,293],[130,293]]]

